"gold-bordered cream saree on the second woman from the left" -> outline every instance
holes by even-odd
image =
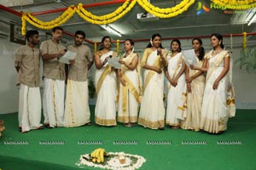
[[[137,57],[136,53],[131,53],[123,58],[125,63],[131,64],[132,60]],[[125,65],[122,65],[121,74],[126,84],[119,84],[119,122],[137,122],[138,103],[142,97],[142,82],[141,82],[141,65],[137,63],[137,68],[133,71],[129,70]]]

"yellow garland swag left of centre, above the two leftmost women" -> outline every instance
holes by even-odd
[[[102,16],[96,16],[96,15],[90,14],[90,12],[88,12],[83,8],[83,5],[81,3],[79,3],[79,6],[76,12],[79,14],[80,17],[90,22],[91,24],[107,25],[116,20],[119,20],[126,13],[128,13],[131,10],[131,8],[133,8],[134,5],[137,3],[137,0],[133,0],[129,5],[128,3],[130,3],[130,0],[126,0],[125,3],[121,7],[113,11],[113,13],[102,15]]]

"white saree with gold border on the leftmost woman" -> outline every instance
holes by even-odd
[[[109,55],[112,55],[113,52],[110,51],[107,54],[103,54],[101,60],[104,60]],[[100,77],[105,69],[104,65],[102,69],[96,70],[95,83],[100,81]],[[103,80],[102,86],[97,94],[96,99],[96,108],[95,108],[95,121],[96,124],[102,126],[114,126],[116,125],[116,74],[114,71],[111,71]]]

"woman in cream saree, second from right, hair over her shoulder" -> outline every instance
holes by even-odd
[[[195,50],[197,67],[203,67],[205,49],[202,47],[200,38],[195,37],[192,40],[192,46]],[[201,105],[206,84],[206,78],[202,71],[186,69],[187,82],[187,116],[181,122],[181,128],[194,131],[200,130]]]

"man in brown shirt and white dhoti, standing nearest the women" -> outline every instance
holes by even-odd
[[[84,31],[76,31],[74,44],[67,47],[69,51],[77,53],[77,56],[74,64],[69,65],[68,69],[65,127],[91,125],[87,73],[93,64],[93,56],[90,48],[82,44],[84,38]]]

